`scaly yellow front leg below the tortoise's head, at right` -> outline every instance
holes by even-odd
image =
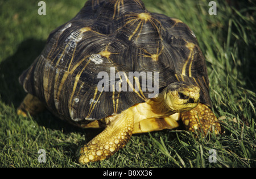
[[[221,133],[220,123],[213,114],[212,110],[207,105],[199,103],[194,109],[185,111],[180,114],[180,117],[185,125],[185,128],[189,131],[195,131],[198,128],[206,135],[208,131],[213,131],[215,134]]]

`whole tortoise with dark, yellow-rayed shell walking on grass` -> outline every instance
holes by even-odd
[[[147,11],[140,0],[89,0],[49,34],[19,77],[28,93],[17,113],[46,107],[83,128],[105,128],[80,149],[81,164],[104,160],[132,134],[172,129],[221,132],[205,59],[181,20]]]

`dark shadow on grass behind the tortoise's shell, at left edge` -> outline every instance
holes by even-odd
[[[27,39],[19,44],[14,55],[0,64],[0,95],[6,105],[18,107],[26,93],[19,84],[19,76],[42,52],[46,41]]]

